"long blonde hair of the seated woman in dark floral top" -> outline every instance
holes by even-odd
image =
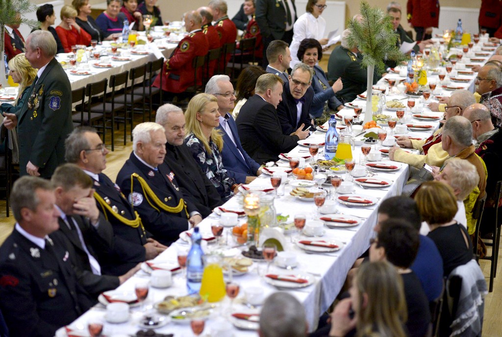
[[[188,138],[190,134],[193,134],[195,137],[199,139],[199,141],[204,145],[207,153],[212,153],[212,149],[209,146],[209,142],[206,139],[206,136],[202,133],[202,128],[200,126],[200,122],[197,120],[197,113],[203,113],[206,105],[210,102],[217,102],[218,99],[210,95],[208,93],[199,93],[193,96],[188,102],[188,107],[185,111],[185,120],[187,122],[186,132]],[[213,128],[211,130],[210,139],[213,143],[218,147],[218,150],[221,152],[223,149],[223,137],[221,136],[221,132]]]

